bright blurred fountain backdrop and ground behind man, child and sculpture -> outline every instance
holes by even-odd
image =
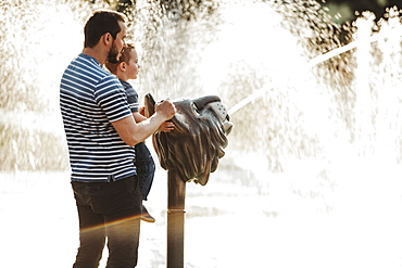
[[[59,82],[108,8],[129,18],[140,97],[217,94],[234,123],[209,183],[187,187],[186,267],[402,267],[395,4],[0,0],[0,263],[74,260]],[[166,184],[158,165],[139,267],[165,265]]]

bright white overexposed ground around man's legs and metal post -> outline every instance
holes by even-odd
[[[205,187],[188,183],[185,267],[401,267],[398,176],[354,175],[348,178],[354,182],[322,189],[303,177],[298,182],[278,175],[264,178],[269,186],[263,188],[230,181],[233,173],[223,165]],[[0,176],[2,266],[72,267],[78,230],[68,174]],[[156,170],[147,201],[156,222],[141,224],[138,267],[165,267],[166,177]]]

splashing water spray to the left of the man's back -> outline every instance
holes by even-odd
[[[1,170],[67,166],[58,88],[91,11],[75,2],[0,1]]]

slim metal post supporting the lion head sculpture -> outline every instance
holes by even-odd
[[[184,268],[186,182],[167,171],[167,268]]]

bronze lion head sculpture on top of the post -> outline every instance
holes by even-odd
[[[164,169],[176,170],[185,181],[205,186],[228,144],[226,136],[233,125],[227,109],[216,95],[173,103],[177,110],[171,119],[175,129],[156,131],[152,137],[159,161]],[[148,93],[145,98],[147,117],[154,113],[154,104]]]

